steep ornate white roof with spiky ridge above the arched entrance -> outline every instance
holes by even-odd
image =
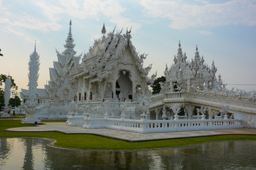
[[[145,54],[139,55],[134,45],[132,45],[130,35],[131,30],[127,30],[122,34],[122,30],[119,33],[114,33],[114,30],[105,35],[105,25],[102,28],[102,38],[95,40],[89,52],[82,58],[82,64],[80,64],[79,72],[74,75],[76,77],[82,74],[88,74],[90,77],[97,77],[99,80],[106,79],[109,74],[112,73],[114,67],[120,62],[125,50],[130,50],[134,57],[134,64],[136,65],[142,77],[147,79],[151,64],[149,67],[143,68],[143,60],[146,58]]]

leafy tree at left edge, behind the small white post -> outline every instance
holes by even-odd
[[[6,74],[0,74],[0,110],[4,106],[4,89],[1,88],[1,86],[4,84],[4,81],[6,81],[7,77],[8,76],[6,76]],[[14,79],[11,76],[9,77],[11,79],[11,89],[12,89],[11,94],[14,96],[17,96],[16,91],[18,90],[18,86],[16,86]]]

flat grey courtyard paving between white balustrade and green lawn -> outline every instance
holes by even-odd
[[[138,133],[111,129],[85,129],[77,126],[69,126],[66,123],[43,123],[34,127],[9,128],[12,132],[63,132],[65,134],[92,134],[110,137],[129,142],[142,142],[147,140],[166,140],[183,137],[205,137],[213,135],[256,135],[254,128],[225,129],[225,130],[200,130],[186,132],[157,132]]]

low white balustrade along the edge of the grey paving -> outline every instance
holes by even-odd
[[[79,125],[83,128],[110,128],[131,132],[176,132],[188,130],[215,130],[242,128],[242,121],[235,119],[211,120],[131,120],[119,118],[68,118],[68,125]]]

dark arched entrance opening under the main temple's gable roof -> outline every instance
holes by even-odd
[[[130,79],[129,71],[121,70],[119,72],[119,78],[116,81],[115,94],[119,100],[130,99],[132,101],[132,81]]]

